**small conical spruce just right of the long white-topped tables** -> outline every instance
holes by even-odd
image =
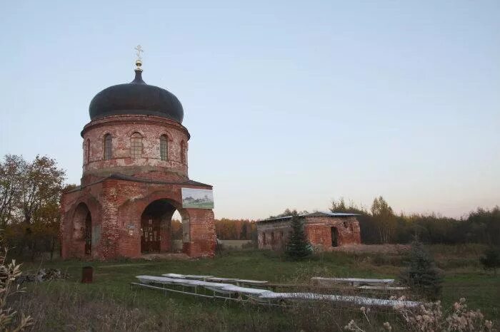
[[[418,240],[411,243],[409,266],[402,272],[401,281],[426,299],[436,300],[441,294],[442,276]]]

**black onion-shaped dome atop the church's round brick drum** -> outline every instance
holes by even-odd
[[[105,88],[92,99],[89,106],[91,120],[109,115],[156,115],[182,123],[184,110],[181,102],[169,91],[142,81],[136,70],[134,81]]]

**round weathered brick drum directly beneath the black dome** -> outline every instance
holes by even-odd
[[[131,135],[142,135],[141,157],[131,157]],[[111,135],[111,159],[104,160],[104,136]],[[161,160],[160,137],[168,137],[167,160]],[[114,173],[143,176],[161,180],[187,180],[189,133],[175,121],[147,115],[114,115],[91,121],[82,131],[84,142],[83,183]],[[184,145],[181,144],[184,142]],[[184,147],[184,150],[181,150]],[[184,154],[184,160],[181,155]]]

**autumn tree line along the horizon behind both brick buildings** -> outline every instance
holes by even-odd
[[[56,160],[37,155],[27,161],[20,155],[0,160],[0,229],[3,241],[14,254],[41,252],[51,255],[59,248],[59,202],[66,174]],[[331,202],[331,212],[351,212],[361,228],[365,244],[409,243],[415,236],[422,242],[442,244],[481,243],[500,246],[500,207],[477,208],[466,217],[454,219],[436,214],[396,214],[383,197],[376,197],[370,209],[343,198]],[[282,215],[306,213],[286,209]],[[216,219],[219,239],[257,239],[256,223],[249,219]],[[173,239],[182,238],[180,221],[172,221]]]

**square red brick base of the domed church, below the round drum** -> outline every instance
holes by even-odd
[[[196,188],[196,186],[182,186]],[[203,187],[201,189],[206,189]],[[117,257],[141,256],[141,216],[152,202],[164,199],[171,204],[169,217],[177,209],[182,216],[186,237],[183,249],[192,257],[214,256],[216,233],[214,212],[211,209],[183,209],[181,207],[181,185],[160,185],[144,182],[108,179],[90,185],[83,190],[64,194],[61,200],[63,222],[61,243],[63,258],[84,255],[84,241],[75,239],[74,211],[79,204],[89,207],[92,227],[100,229],[98,243],[92,243],[92,254],[88,258],[113,259]],[[167,218],[167,219],[170,219]],[[169,222],[164,221],[164,223]],[[161,251],[169,251],[170,234],[167,224],[161,224]]]

